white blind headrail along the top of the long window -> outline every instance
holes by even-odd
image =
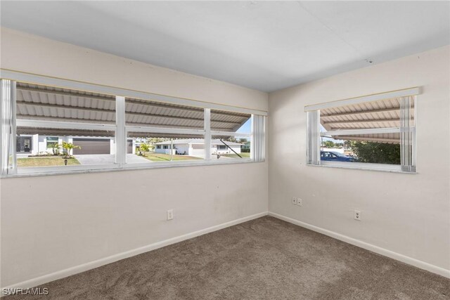
[[[113,86],[101,86],[98,84],[88,84],[86,82],[72,81],[68,79],[60,79],[55,77],[46,77],[37,74],[29,74],[17,72],[13,70],[0,70],[2,79],[11,79],[16,81],[23,81],[30,84],[43,84],[45,86],[57,86],[65,89],[75,89],[82,91],[90,91],[94,93],[103,93],[112,96],[123,96],[128,98],[137,98],[142,100],[151,100],[163,103],[173,103],[176,105],[187,105],[202,108],[211,108],[214,110],[226,110],[229,112],[243,112],[247,114],[256,114],[266,116],[267,112],[262,110],[253,110],[244,107],[235,107],[230,105],[222,105],[216,103],[208,103],[198,100],[191,100],[186,98],[177,98],[172,96],[158,95],[156,93],[146,93],[141,91],[132,91],[129,89],[120,89]]]

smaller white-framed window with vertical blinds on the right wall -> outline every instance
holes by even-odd
[[[418,88],[309,105],[307,164],[416,171]]]

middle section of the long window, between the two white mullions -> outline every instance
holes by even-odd
[[[127,164],[178,164],[205,159],[205,109],[125,98],[125,128],[136,140]],[[195,150],[201,145],[203,150]],[[155,165],[156,165],[155,164]]]

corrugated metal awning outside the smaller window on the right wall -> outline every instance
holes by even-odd
[[[321,125],[326,131],[400,127],[400,99],[391,98],[367,103],[330,107],[321,110]],[[411,122],[414,107],[411,107]],[[400,143],[399,133],[332,136],[338,140]]]

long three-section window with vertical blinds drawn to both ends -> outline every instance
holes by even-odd
[[[1,79],[2,176],[264,160],[264,112],[14,76]]]

